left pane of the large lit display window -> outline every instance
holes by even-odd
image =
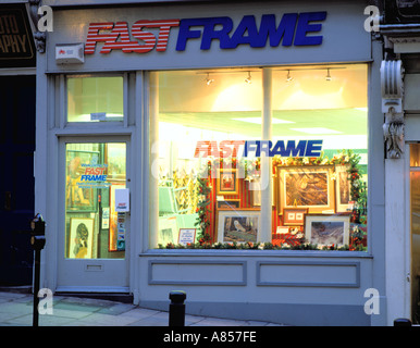
[[[150,246],[256,243],[240,146],[261,136],[261,71],[159,72],[151,89]]]

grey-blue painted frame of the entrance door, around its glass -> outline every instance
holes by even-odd
[[[83,259],[83,260],[70,260],[64,258],[64,243],[65,243],[65,145],[66,144],[98,144],[98,142],[124,142],[126,145],[126,187],[131,189],[132,171],[134,170],[131,164],[132,147],[129,135],[89,135],[89,136],[63,136],[58,138],[58,191],[57,191],[57,235],[55,235],[55,291],[57,293],[129,293],[131,287],[131,213],[126,213],[126,247],[124,259]],[[91,278],[94,284],[77,284],[70,285],[63,282],[63,271],[69,271],[71,268],[75,268],[82,276],[82,283],[86,282],[86,278]],[[122,284],[120,278],[119,284],[112,284],[112,281],[107,276],[121,272],[124,268],[125,282]],[[81,273],[84,272],[84,273]],[[108,273],[108,274],[107,274]],[[73,277],[77,277],[73,275]]]

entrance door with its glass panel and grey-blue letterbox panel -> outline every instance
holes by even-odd
[[[63,146],[58,288],[124,291],[128,286],[127,144]]]

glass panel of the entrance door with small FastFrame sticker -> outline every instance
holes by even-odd
[[[115,191],[125,188],[125,144],[67,144],[65,153],[65,258],[123,259]]]

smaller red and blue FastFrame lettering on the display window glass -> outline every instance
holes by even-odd
[[[197,141],[195,158],[214,157],[228,158],[238,157],[242,148],[243,157],[320,157],[322,151],[322,140],[223,140],[218,141],[200,140]]]

